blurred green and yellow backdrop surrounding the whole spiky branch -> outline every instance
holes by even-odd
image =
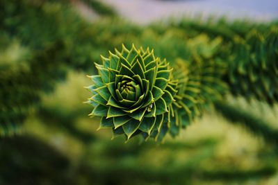
[[[233,34],[277,26],[277,10],[275,0],[0,0],[0,104],[13,105],[1,108],[0,184],[278,184],[277,105],[227,96],[251,123],[211,106],[160,144],[111,140],[83,104],[93,62],[122,43],[170,62],[211,56]]]

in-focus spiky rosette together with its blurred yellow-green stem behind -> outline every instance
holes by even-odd
[[[101,59],[102,64],[95,64],[99,75],[89,76],[93,96],[87,103],[94,107],[89,115],[101,117],[99,128],[110,127],[127,140],[136,134],[159,142],[168,132],[177,136],[225,89],[219,80],[223,70],[213,60],[190,66],[178,60],[172,72],[153,50],[134,45],[131,50],[122,45],[121,52]]]

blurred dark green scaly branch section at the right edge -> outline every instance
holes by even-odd
[[[227,78],[231,93],[273,105],[278,101],[278,29],[251,30],[246,39],[234,38]]]

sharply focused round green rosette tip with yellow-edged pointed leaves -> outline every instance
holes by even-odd
[[[154,51],[130,50],[110,52],[95,64],[99,75],[89,76],[88,87],[93,96],[88,103],[94,107],[91,116],[100,116],[99,128],[111,127],[115,135],[126,139],[136,134],[149,136],[154,127],[161,127],[164,114],[172,112],[177,93],[177,80],[166,60],[154,56]]]

